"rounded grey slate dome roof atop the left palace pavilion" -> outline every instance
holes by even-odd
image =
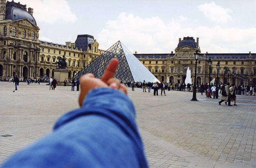
[[[32,15],[30,15],[30,13],[28,13],[26,10],[13,6],[6,7],[5,20],[18,20],[23,18],[27,18],[34,25],[37,25],[35,18]]]

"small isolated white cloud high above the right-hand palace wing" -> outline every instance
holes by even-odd
[[[197,8],[203,12],[207,18],[216,23],[227,23],[232,20],[229,13],[232,13],[233,11],[229,8],[223,8],[216,5],[215,2],[204,3],[199,5]]]

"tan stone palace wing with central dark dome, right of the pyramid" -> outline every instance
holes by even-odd
[[[199,38],[197,41],[192,37],[179,38],[179,44],[175,49],[175,53],[167,54],[137,54],[135,56],[143,63],[149,71],[151,71],[159,81],[166,82],[184,82],[186,79],[186,71],[191,69],[192,82],[195,75],[195,59],[194,53],[199,48]],[[228,53],[228,54],[209,54],[200,53],[197,60],[197,83],[209,82],[209,66],[208,60],[211,58],[211,79],[217,77],[216,64],[220,63],[219,80],[224,81],[224,70],[226,66],[230,69],[230,74],[225,74],[225,81],[236,82],[236,84],[244,84],[245,80],[240,77],[247,77],[248,81],[256,84],[256,54],[255,53]],[[235,77],[231,73],[236,72],[240,77]],[[228,79],[229,77],[229,79]],[[235,81],[236,80],[236,81]]]

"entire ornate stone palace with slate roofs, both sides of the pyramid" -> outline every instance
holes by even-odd
[[[69,79],[90,64],[104,51],[91,35],[78,35],[75,43],[57,44],[39,40],[33,8],[20,3],[0,0],[0,78],[40,78],[54,76],[58,56],[65,55]],[[206,83],[217,77],[216,64],[220,64],[219,80],[223,82],[256,83],[255,53],[201,53],[199,38],[179,38],[174,52],[165,54],[134,54],[159,81],[184,82],[187,68],[191,69],[192,82],[195,71],[197,83]],[[197,69],[194,53],[199,51]],[[212,65],[208,65],[209,58]],[[224,74],[224,67],[230,73]],[[232,74],[236,73],[236,75]],[[246,79],[246,80],[244,80]]]

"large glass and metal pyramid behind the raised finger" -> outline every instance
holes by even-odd
[[[119,60],[119,65],[114,74],[114,78],[117,78],[122,82],[142,82],[144,80],[146,82],[159,82],[158,79],[120,41],[115,43],[107,51],[78,72],[70,79],[70,81],[72,81],[72,79],[78,79],[87,73],[92,73],[95,77],[100,78],[112,58],[117,58]]]

